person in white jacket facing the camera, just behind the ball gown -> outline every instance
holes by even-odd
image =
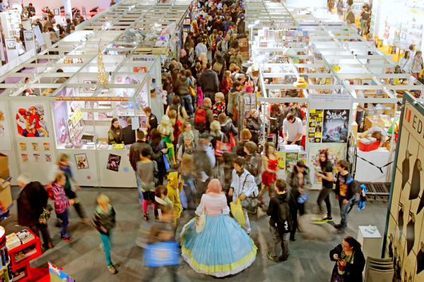
[[[254,181],[252,174],[245,168],[246,161],[243,157],[237,157],[234,161],[234,170],[232,171],[232,181],[230,185],[229,196],[232,196],[232,202],[240,199],[241,201],[248,201],[247,197],[257,197],[259,194],[258,186]],[[247,209],[243,208],[245,214],[245,229],[247,235],[250,235],[252,228],[250,228],[249,214]]]

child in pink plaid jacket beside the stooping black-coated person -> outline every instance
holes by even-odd
[[[56,212],[57,220],[61,223],[60,238],[65,242],[72,240],[68,235],[68,209],[66,207],[75,204],[75,199],[66,200],[64,185],[66,177],[63,174],[58,174],[52,182],[52,192],[54,200],[54,211]]]

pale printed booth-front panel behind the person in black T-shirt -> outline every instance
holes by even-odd
[[[315,143],[309,146],[310,155],[310,168],[311,173],[314,175],[315,171],[322,171],[321,164],[319,161],[319,154],[323,149],[327,149],[329,155],[329,161],[333,164],[333,175],[336,178],[337,175],[337,164],[341,159],[345,159],[346,156],[346,144],[323,144]],[[314,184],[322,183],[321,178],[314,176]]]

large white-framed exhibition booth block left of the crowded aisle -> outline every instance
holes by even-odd
[[[131,120],[134,135],[146,130],[146,106],[163,116],[161,69],[179,54],[190,6],[119,3],[1,76],[0,151],[17,168],[12,183],[20,173],[47,183],[64,153],[79,185],[136,187],[129,146],[108,145],[108,131],[112,118],[122,128]]]

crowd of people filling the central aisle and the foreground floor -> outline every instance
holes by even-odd
[[[136,132],[136,140],[134,134],[131,137],[131,122],[128,128],[121,128],[114,118],[108,135],[110,144],[132,144],[129,161],[136,176],[143,222],[151,223],[143,227],[146,232],[140,235],[140,245],[178,243],[179,252],[194,271],[223,277],[254,263],[257,246],[250,238],[249,216],[257,214],[258,209],[269,216],[273,243],[267,257],[273,262],[289,258],[289,241],[296,240],[298,213],[305,214],[305,192],[311,187],[311,180],[310,168],[303,161],[288,168],[286,180],[278,177],[276,146],[262,140],[257,109],[249,111],[244,128],[237,129],[240,98],[249,94],[247,89],[252,87],[242,66],[238,40],[249,37],[249,32],[245,31],[245,11],[239,2],[218,2],[199,1],[199,13],[184,40],[180,59],[173,59],[162,73],[163,89],[167,91],[165,115],[158,121],[150,107],[143,109],[148,116],[148,130]],[[209,51],[212,60],[208,59]],[[273,130],[285,144],[300,145],[305,114],[298,103],[285,106],[271,106]],[[232,148],[220,152],[221,143]],[[326,215],[317,221],[333,220],[329,198],[335,184],[341,214],[341,222],[335,228],[337,233],[343,233],[355,198],[349,164],[338,161],[335,183],[326,150],[320,153],[320,164],[322,169],[315,176],[322,178],[323,188],[317,206],[322,209],[324,200]],[[66,154],[54,166],[50,181],[45,190],[40,183],[30,182],[26,174],[18,178],[23,188],[18,197],[18,221],[36,234],[41,231],[45,249],[53,247],[52,240],[47,225],[37,221],[37,214],[45,212],[49,198],[54,201],[62,240],[72,240],[67,230],[69,206],[75,207],[83,221],[89,221],[76,195],[80,188]],[[180,197],[182,193],[185,202]],[[100,194],[97,200],[92,222],[100,233],[107,267],[115,274],[110,244],[115,211],[107,195]],[[149,204],[153,214],[148,212]],[[193,216],[188,222],[182,219],[184,209]],[[365,260],[355,239],[344,238],[341,245],[331,250],[330,259],[336,262],[333,276],[342,281],[362,281]],[[178,268],[169,268],[175,279]],[[147,271],[143,281],[150,281],[154,275],[154,270]]]

